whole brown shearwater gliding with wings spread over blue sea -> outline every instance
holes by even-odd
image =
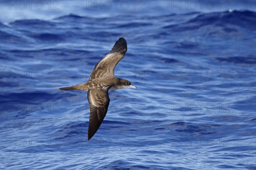
[[[129,87],[137,89],[136,86],[131,85],[130,81],[114,76],[115,66],[125,56],[126,51],[126,40],[121,37],[116,41],[111,51],[96,64],[89,81],[75,86],[60,88],[60,90],[88,91],[87,99],[90,106],[88,141],[97,132],[108,112],[110,102],[108,91]]]

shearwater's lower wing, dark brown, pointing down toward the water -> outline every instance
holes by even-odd
[[[90,105],[90,120],[88,127],[88,141],[97,132],[108,112],[108,89],[89,89],[87,98]]]

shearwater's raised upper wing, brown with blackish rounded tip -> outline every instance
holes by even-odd
[[[121,37],[116,41],[111,51],[96,64],[92,74],[90,75],[89,81],[94,78],[114,76],[115,66],[125,56],[126,51],[126,40]]]

